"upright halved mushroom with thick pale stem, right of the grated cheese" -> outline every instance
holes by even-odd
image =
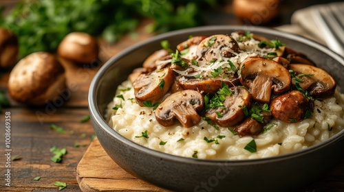
[[[256,101],[269,103],[271,90],[276,95],[280,95],[291,88],[288,69],[274,60],[247,58],[241,63],[240,69],[240,82],[250,88],[252,99]]]

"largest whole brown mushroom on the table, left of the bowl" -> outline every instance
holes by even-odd
[[[10,73],[8,93],[15,101],[43,105],[65,88],[65,69],[54,55],[32,53],[21,59]]]

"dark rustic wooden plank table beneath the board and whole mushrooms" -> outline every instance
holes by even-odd
[[[8,2],[8,1],[6,1]],[[296,1],[295,1],[296,2]],[[286,3],[286,2],[285,2]],[[309,3],[309,2],[308,2]],[[292,5],[286,3],[282,10],[281,18],[276,21],[279,25],[289,22],[292,10],[301,8],[305,3]],[[219,12],[213,12],[208,17],[208,25],[212,24],[239,24],[230,12],[230,5],[225,6]],[[215,18],[215,19],[214,19]],[[129,45],[147,39],[153,34],[144,31],[144,25],[150,21],[142,21],[138,28],[138,39],[131,39],[129,36],[123,38],[115,45],[107,45],[100,40],[100,60],[105,62],[120,50]],[[277,25],[277,23],[270,25]],[[103,63],[102,62],[102,63]],[[61,181],[67,183],[65,191],[80,191],[76,180],[76,167],[87,147],[92,143],[94,131],[91,122],[80,123],[85,115],[89,115],[87,104],[87,93],[89,84],[92,81],[99,67],[83,68],[69,62],[63,62],[67,75],[67,86],[70,89],[70,98],[63,100],[62,106],[50,104],[43,107],[25,107],[11,100],[11,107],[5,108],[0,114],[1,134],[0,134],[0,168],[1,184],[0,191],[57,191],[54,182]],[[10,70],[3,71],[0,77],[0,89],[7,92],[7,82]],[[4,122],[5,113],[10,112],[11,118],[11,141],[10,151],[10,186],[6,187],[4,174],[6,168],[6,147]],[[59,133],[50,128],[51,124],[56,124],[65,128],[65,133]],[[79,147],[76,147],[76,144]],[[50,148],[57,146],[65,147],[67,154],[63,156],[61,163],[54,163],[50,158],[53,154]],[[336,191],[344,189],[344,162],[334,171],[330,172],[323,179],[314,182],[300,191]],[[41,179],[35,181],[34,178],[40,176]]]

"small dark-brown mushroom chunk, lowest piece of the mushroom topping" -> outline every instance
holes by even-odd
[[[257,135],[263,130],[264,125],[252,118],[245,119],[235,128],[235,132],[237,132],[239,136]]]

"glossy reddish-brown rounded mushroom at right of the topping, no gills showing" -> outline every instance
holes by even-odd
[[[310,101],[301,91],[290,91],[272,99],[270,104],[272,116],[286,123],[294,123],[305,119],[310,110]]]

